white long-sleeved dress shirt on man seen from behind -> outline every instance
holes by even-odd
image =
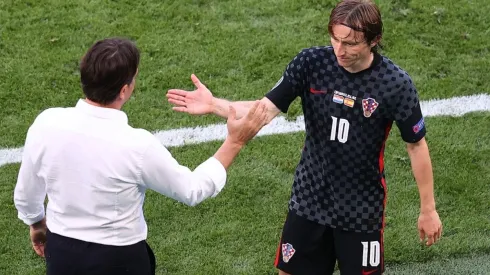
[[[79,100],[42,112],[29,128],[14,191],[18,217],[42,220],[51,232],[107,245],[147,237],[146,189],[187,205],[216,196],[226,170],[210,157],[194,171],[181,166],[124,112]]]

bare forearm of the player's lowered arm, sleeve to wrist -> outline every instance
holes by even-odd
[[[436,208],[434,199],[434,178],[429,149],[425,140],[408,146],[412,171],[420,194],[420,211],[430,212]]]

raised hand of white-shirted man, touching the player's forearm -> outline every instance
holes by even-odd
[[[255,101],[247,115],[236,119],[236,110],[230,106],[228,116],[228,139],[236,144],[245,145],[267,124],[267,107],[260,100]]]

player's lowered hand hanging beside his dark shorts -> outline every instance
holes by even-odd
[[[425,242],[427,246],[433,245],[441,238],[442,223],[436,210],[420,213],[418,230],[420,241]]]

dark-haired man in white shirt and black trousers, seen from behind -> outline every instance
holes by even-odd
[[[132,42],[98,41],[80,65],[86,99],[45,110],[29,128],[14,202],[49,275],[154,274],[146,189],[190,206],[215,197],[234,158],[266,123],[259,101],[247,116],[231,116],[224,143],[191,171],[150,132],[128,125],[121,107],[138,65]]]

